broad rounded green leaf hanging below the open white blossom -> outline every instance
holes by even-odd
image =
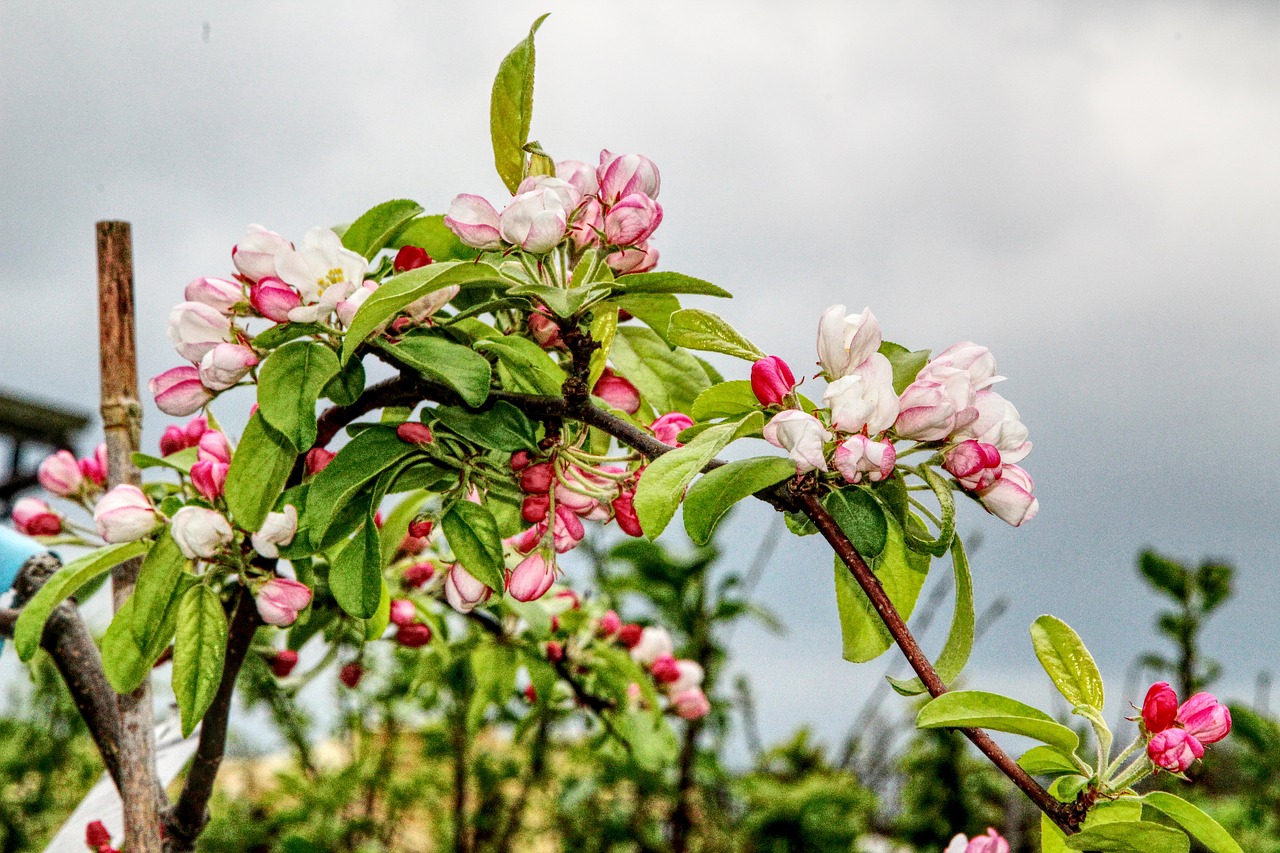
[[[323,343],[294,341],[269,355],[257,374],[262,419],[305,453],[316,441],[316,400],[338,375],[338,356]]]

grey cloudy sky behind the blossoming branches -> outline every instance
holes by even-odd
[[[1208,638],[1221,692],[1252,695],[1280,653],[1274,4],[4,3],[0,387],[95,407],[97,219],[133,223],[148,377],[246,224],[499,199],[489,85],[547,10],[534,137],[659,164],[663,266],[737,295],[703,307],[797,366],[833,302],[996,352],[1042,510],[1012,530],[963,508],[979,605],[1012,601],[972,685],[1046,701],[1025,626],[1052,611],[1117,697],[1153,644],[1153,544],[1239,566]],[[837,736],[882,665],[840,661],[820,543],[785,542],[760,593],[791,628],[737,635],[767,731]]]

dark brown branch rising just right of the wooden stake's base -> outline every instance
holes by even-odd
[[[223,763],[227,749],[227,722],[232,711],[232,697],[236,693],[236,678],[253,642],[253,633],[261,625],[253,594],[244,587],[236,593],[227,635],[227,657],[223,663],[223,679],[218,684],[209,711],[205,712],[200,727],[200,743],[191,762],[191,771],[182,786],[178,802],[165,815],[166,853],[184,853],[196,849],[196,839],[209,822],[209,798],[214,793],[218,768]]]

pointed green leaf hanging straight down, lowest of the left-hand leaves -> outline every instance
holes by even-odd
[[[223,602],[212,589],[197,584],[182,597],[173,643],[173,693],[182,713],[183,738],[191,736],[218,694],[225,654]]]

